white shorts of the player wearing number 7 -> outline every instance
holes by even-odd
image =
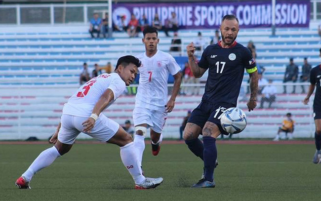
[[[152,128],[155,132],[161,133],[167,120],[165,111],[151,110],[142,107],[135,107],[133,111],[134,126],[147,123],[147,128]]]

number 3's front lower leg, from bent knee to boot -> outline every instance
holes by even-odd
[[[120,158],[130,175],[135,181],[135,189],[152,189],[159,186],[163,179],[146,178],[142,173],[137,157],[137,149],[131,136],[120,126],[118,132],[108,141],[120,146]]]

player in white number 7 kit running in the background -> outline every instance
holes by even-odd
[[[152,154],[157,156],[162,141],[162,129],[175,105],[175,99],[181,85],[181,68],[168,53],[157,49],[159,43],[158,32],[154,27],[147,27],[143,31],[145,52],[137,56],[142,65],[138,68],[140,77],[136,94],[133,120],[136,134],[134,144],[138,149],[138,159],[141,162],[145,149],[145,135],[151,128]],[[171,74],[174,86],[171,97],[167,100],[167,80]]]

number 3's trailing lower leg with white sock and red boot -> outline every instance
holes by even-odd
[[[44,150],[35,159],[35,161],[29,166],[21,177],[19,177],[15,183],[20,189],[30,189],[29,182],[32,177],[42,168],[49,166],[58,157],[64,155],[71,149],[72,145],[63,144],[57,141],[56,145]],[[60,150],[60,152],[58,151]]]

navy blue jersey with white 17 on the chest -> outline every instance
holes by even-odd
[[[230,48],[222,48],[220,42],[207,46],[202,53],[199,67],[208,69],[208,77],[202,100],[237,104],[244,68],[248,73],[256,71],[251,52],[234,42]]]

